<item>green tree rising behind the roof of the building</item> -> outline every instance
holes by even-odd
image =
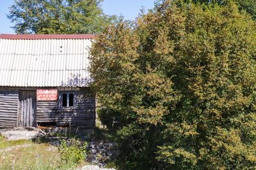
[[[104,15],[102,0],[16,0],[7,18],[17,34],[96,34],[115,16]]]

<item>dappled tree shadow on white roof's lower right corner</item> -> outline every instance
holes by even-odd
[[[91,78],[83,78],[81,74],[70,74],[67,82],[61,81],[62,87],[88,87],[92,82]]]

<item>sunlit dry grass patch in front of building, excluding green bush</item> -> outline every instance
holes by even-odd
[[[7,141],[0,136],[0,169],[69,169],[85,164],[84,161],[63,161],[61,153],[48,143],[23,139]]]

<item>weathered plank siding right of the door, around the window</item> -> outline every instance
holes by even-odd
[[[68,91],[76,97],[75,107],[61,107],[61,101],[37,101],[36,123],[56,122],[56,125],[93,128],[95,126],[95,96],[89,89]],[[58,96],[60,96],[59,92]]]

